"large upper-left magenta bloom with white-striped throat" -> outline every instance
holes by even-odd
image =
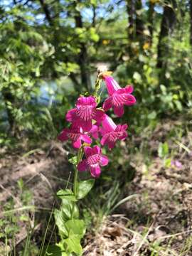
[[[105,113],[96,107],[95,97],[79,97],[76,107],[66,114],[66,119],[73,125],[82,127],[83,131],[89,132],[92,129],[92,119],[100,123],[105,118]]]

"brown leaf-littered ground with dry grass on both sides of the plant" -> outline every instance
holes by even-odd
[[[170,137],[176,127],[178,136]],[[136,196],[112,215],[105,216],[97,233],[87,233],[83,255],[192,255],[192,133],[179,135],[180,129],[179,122],[162,122],[150,135],[132,139],[140,148],[137,154],[129,156],[136,174],[124,187],[124,196]],[[159,142],[169,145],[169,154],[161,156]],[[30,202],[36,208],[33,218],[30,213],[31,225],[35,226],[33,242],[39,245],[39,233],[46,218],[43,213],[51,211],[55,191],[68,183],[70,167],[66,151],[58,142],[50,142],[28,154],[21,154],[19,149],[6,154],[4,150],[0,152],[4,156],[0,160],[1,218],[10,213],[10,198],[14,209],[24,210],[23,200],[27,199],[22,195],[29,188],[33,194]],[[150,155],[148,164],[146,151]],[[17,212],[14,244],[19,247],[27,237],[28,225]],[[5,223],[0,223],[2,256],[6,255]]]

